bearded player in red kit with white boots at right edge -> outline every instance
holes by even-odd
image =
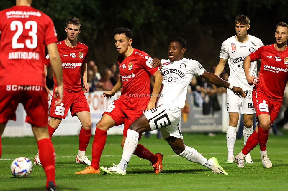
[[[251,86],[255,84],[252,92],[252,100],[256,110],[258,131],[254,131],[248,138],[242,151],[235,157],[238,167],[244,167],[243,158],[255,148],[258,143],[264,167],[272,167],[272,163],[267,155],[266,144],[268,131],[279,113],[285,86],[288,81],[288,25],[286,23],[280,22],[277,24],[275,38],[275,44],[260,47],[244,60],[244,71],[247,82]],[[256,78],[249,74],[249,68],[251,61],[259,59],[261,59],[262,62],[259,78]],[[258,80],[257,83],[255,83],[254,79]]]

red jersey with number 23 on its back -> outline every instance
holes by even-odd
[[[45,86],[45,45],[57,42],[49,16],[30,6],[0,11],[0,85]]]

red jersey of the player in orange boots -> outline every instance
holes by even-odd
[[[117,62],[123,84],[119,99],[128,109],[145,110],[150,100],[150,75],[157,70],[151,66],[152,58],[134,48],[130,56],[118,56]]]

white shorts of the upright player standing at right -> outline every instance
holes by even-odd
[[[246,94],[245,98],[239,98],[232,90],[227,89],[226,107],[228,112],[241,114],[254,114],[255,109],[252,102],[252,90],[243,90]]]

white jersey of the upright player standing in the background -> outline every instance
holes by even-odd
[[[255,36],[248,35],[249,40],[245,43],[236,41],[236,35],[228,38],[222,43],[220,58],[228,59],[230,76],[228,82],[243,90],[252,90],[254,86],[247,83],[243,61],[250,53],[263,46],[262,41]],[[257,77],[257,61],[251,62],[249,70],[251,76]]]

